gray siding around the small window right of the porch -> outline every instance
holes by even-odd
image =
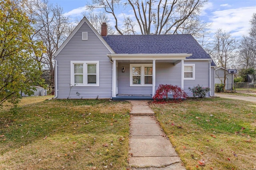
[[[184,80],[184,91],[188,96],[193,96],[188,87],[200,85],[209,87],[209,61],[184,61],[184,64],[195,64],[195,80]]]

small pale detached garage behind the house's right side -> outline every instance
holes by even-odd
[[[224,67],[217,67],[215,69],[215,83],[224,84],[224,75],[226,74],[225,90],[231,90],[232,84],[234,83],[234,78],[232,79],[233,74],[228,74],[228,69]]]

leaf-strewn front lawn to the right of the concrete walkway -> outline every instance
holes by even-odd
[[[256,168],[255,103],[210,98],[151,107],[188,170]]]

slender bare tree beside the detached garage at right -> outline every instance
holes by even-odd
[[[224,70],[226,70],[235,60],[237,40],[232,38],[229,32],[223,32],[222,29],[218,29],[214,39],[212,53],[210,53],[210,55],[212,55],[217,66],[224,67]],[[226,74],[224,74],[223,83],[226,83]]]

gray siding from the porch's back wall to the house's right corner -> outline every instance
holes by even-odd
[[[184,80],[184,91],[192,96],[188,87],[201,85],[209,87],[209,63],[208,61],[184,61],[184,64],[195,64],[195,80]],[[125,72],[122,73],[122,67]],[[214,68],[211,70],[211,95],[214,95]],[[181,86],[181,63],[156,63],[156,87],[160,84]],[[118,94],[119,95],[152,95],[152,87],[130,87],[130,63],[118,63]]]

